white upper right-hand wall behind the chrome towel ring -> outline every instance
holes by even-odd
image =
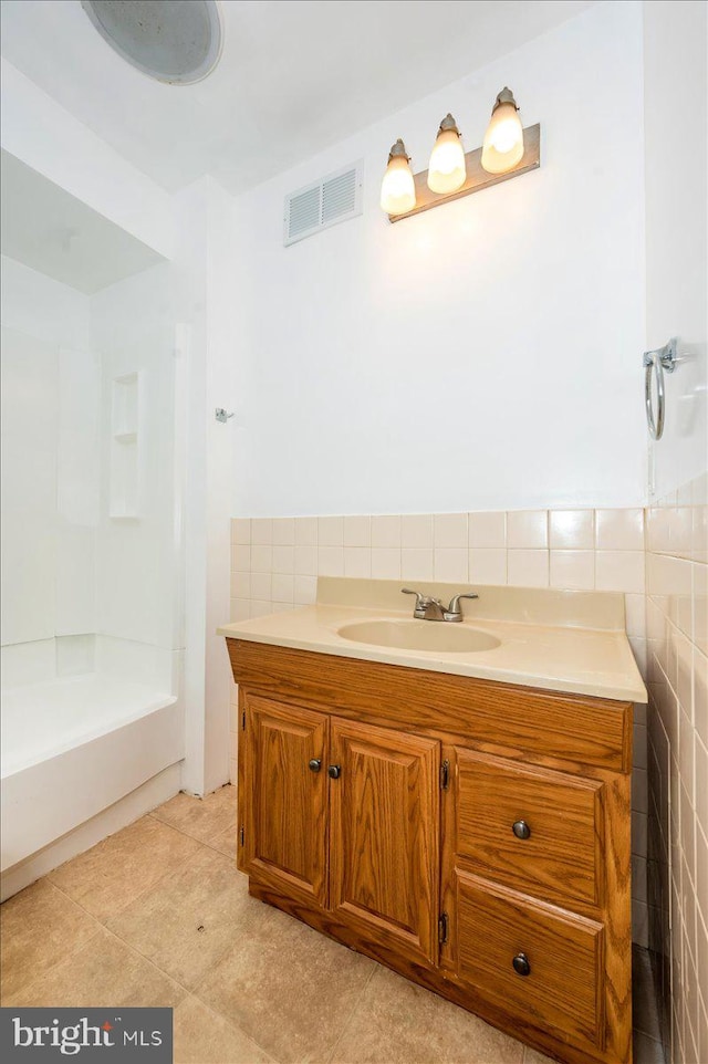
[[[679,338],[652,445],[662,498],[708,467],[708,85],[704,0],[653,0],[644,15],[646,343]]]

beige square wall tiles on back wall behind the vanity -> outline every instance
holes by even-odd
[[[231,620],[315,599],[317,576],[440,580],[624,592],[627,634],[646,676],[645,511],[510,510],[472,513],[235,518]],[[238,723],[231,688],[231,780]],[[648,940],[646,707],[635,708],[634,938]]]

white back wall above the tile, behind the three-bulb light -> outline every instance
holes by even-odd
[[[509,84],[542,166],[417,218],[391,144],[472,148]],[[644,500],[642,11],[604,3],[238,201],[233,511]],[[283,197],[363,157],[364,215],[282,247]]]

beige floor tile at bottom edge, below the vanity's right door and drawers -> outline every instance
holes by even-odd
[[[523,1045],[437,994],[378,968],[332,1064],[521,1064]]]

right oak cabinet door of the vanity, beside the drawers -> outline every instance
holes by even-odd
[[[435,963],[439,743],[333,718],[330,763],[333,915]]]

